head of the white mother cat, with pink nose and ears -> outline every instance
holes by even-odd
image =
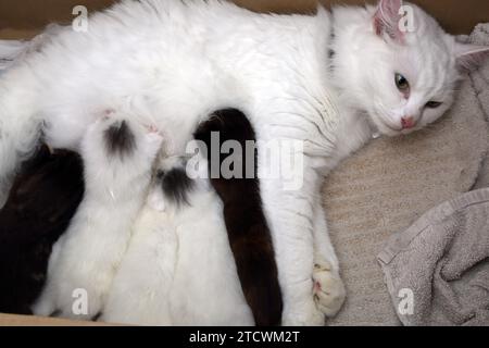
[[[462,72],[489,57],[489,47],[455,41],[422,9],[401,0],[334,14],[335,79],[385,135],[438,120],[453,103]]]

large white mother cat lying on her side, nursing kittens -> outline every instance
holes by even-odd
[[[100,109],[154,121],[170,156],[185,152],[212,110],[241,109],[259,140],[304,142],[302,187],[287,190],[283,179],[263,177],[261,195],[283,323],[323,324],[323,313],[334,315],[344,298],[317,197],[324,175],[373,129],[406,134],[440,117],[460,67],[488,51],[455,42],[413,4],[414,29],[402,32],[401,4],[380,0],[333,15],[319,8],[306,16],[256,14],[216,0],[141,0],[95,14],[87,33],[64,29],[3,74],[0,191],[41,134],[52,147],[77,149]],[[259,175],[268,172],[260,147],[258,163]],[[314,297],[313,278],[321,285]]]

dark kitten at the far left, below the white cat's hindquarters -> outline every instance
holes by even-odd
[[[51,249],[84,195],[78,154],[43,146],[24,163],[0,211],[0,312],[30,314]]]

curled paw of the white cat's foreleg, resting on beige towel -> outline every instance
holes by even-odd
[[[328,263],[316,264],[313,272],[314,301],[327,316],[335,316],[343,306],[347,290],[338,272]]]

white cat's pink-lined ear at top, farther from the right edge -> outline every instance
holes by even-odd
[[[378,36],[387,35],[398,42],[403,41],[404,33],[399,26],[402,21],[401,7],[402,0],[379,0],[374,15],[374,29]]]

